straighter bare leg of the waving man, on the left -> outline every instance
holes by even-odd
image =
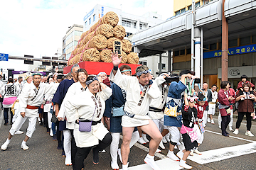
[[[122,145],[121,145],[121,155],[122,155],[122,164],[126,165],[129,157],[129,143],[132,139],[132,133],[134,131],[134,127],[123,127],[122,128]]]

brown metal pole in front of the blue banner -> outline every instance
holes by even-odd
[[[228,81],[228,21],[224,16],[225,0],[223,0],[222,17],[222,57],[221,57],[221,81]]]

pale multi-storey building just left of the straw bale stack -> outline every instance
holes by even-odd
[[[83,33],[82,30],[83,27],[77,24],[74,24],[68,28],[67,33],[63,37],[63,51],[61,52],[65,54],[63,55],[63,59],[69,59],[71,52],[75,49],[75,46],[78,45],[78,40]]]

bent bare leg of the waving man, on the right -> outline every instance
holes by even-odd
[[[151,137],[149,142],[149,155],[154,156],[156,149],[159,147],[159,143],[162,139],[162,135],[159,129],[156,127],[156,124],[149,120],[148,125],[141,126],[142,130],[146,132]]]

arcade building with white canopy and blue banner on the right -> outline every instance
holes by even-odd
[[[194,25],[193,13],[189,8],[191,1],[183,2],[174,0],[174,16],[167,21],[133,35],[134,52],[138,52],[139,56],[156,54],[158,51],[173,52],[173,56],[169,55],[169,64],[172,64],[169,72],[178,73],[182,69],[191,69],[191,47],[194,47],[193,56],[201,63],[194,68],[203,70],[199,73],[203,75],[203,82],[220,87],[223,1],[196,1],[199,4],[194,14]],[[182,6],[178,6],[178,3],[182,3]],[[246,74],[255,84],[255,1],[225,0],[224,17],[228,19],[228,80],[236,88],[241,75]],[[191,43],[192,27],[195,34]]]

